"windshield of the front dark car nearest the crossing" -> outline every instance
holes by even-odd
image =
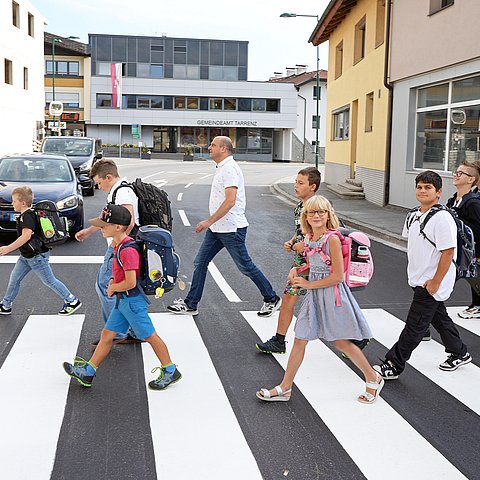
[[[71,182],[67,160],[4,158],[0,162],[0,181],[7,182]]]

